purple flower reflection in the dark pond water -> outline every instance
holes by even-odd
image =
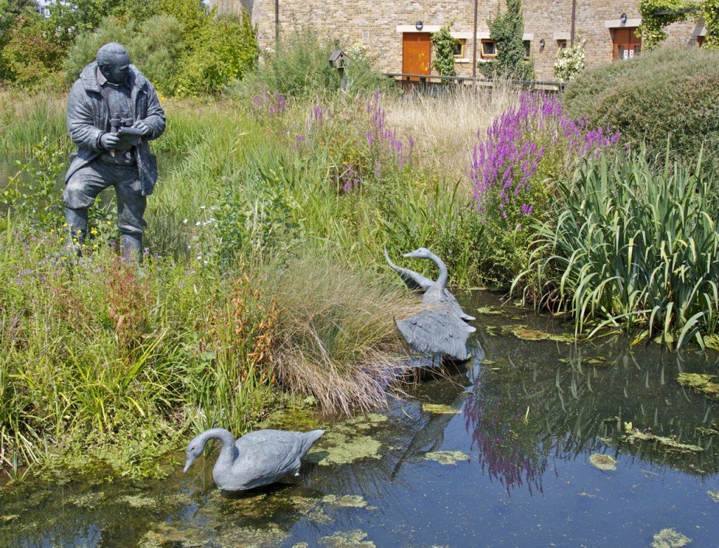
[[[463,409],[472,448],[477,448],[482,471],[508,492],[526,483],[530,493],[541,493],[541,477],[554,444],[542,441],[541,425],[527,419],[526,404],[502,390],[506,387],[491,374],[475,380]]]

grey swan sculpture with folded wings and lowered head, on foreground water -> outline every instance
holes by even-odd
[[[268,485],[288,474],[299,475],[300,459],[322,434],[324,430],[267,429],[249,432],[236,441],[229,430],[212,428],[198,434],[188,444],[183,472],[187,472],[193,460],[202,455],[210,439],[219,439],[222,450],[212,469],[212,478],[220,489],[239,491]]]

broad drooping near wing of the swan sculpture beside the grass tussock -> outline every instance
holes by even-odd
[[[405,340],[419,352],[446,354],[461,361],[470,358],[467,339],[475,328],[449,310],[423,310],[396,324]]]

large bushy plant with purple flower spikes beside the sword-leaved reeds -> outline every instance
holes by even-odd
[[[472,152],[470,176],[477,211],[487,229],[482,271],[503,285],[525,260],[533,219],[544,219],[553,181],[580,158],[613,145],[619,134],[590,130],[564,116],[557,96],[524,93],[517,109],[495,119]]]

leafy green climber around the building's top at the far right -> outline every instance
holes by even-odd
[[[707,29],[704,47],[719,49],[719,0],[640,0],[639,13],[641,24],[637,33],[647,50],[653,50],[667,38],[664,27],[690,17],[704,19]]]

